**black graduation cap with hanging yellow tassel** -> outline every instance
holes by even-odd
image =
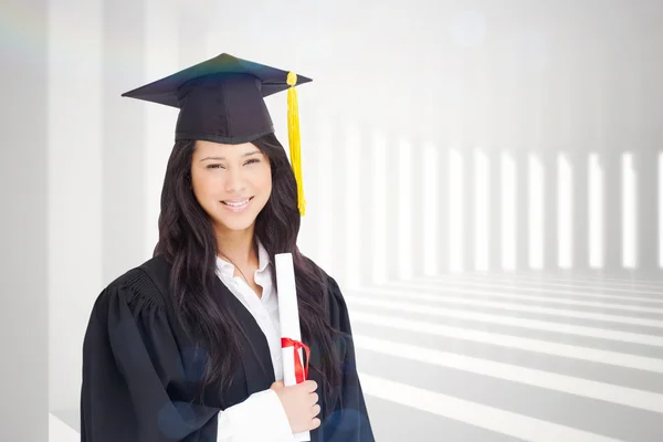
[[[297,180],[299,213],[305,213],[302,185],[297,84],[311,78],[294,72],[222,53],[122,96],[179,108],[175,139],[223,144],[251,143],[274,133],[264,97],[287,90],[290,154]]]

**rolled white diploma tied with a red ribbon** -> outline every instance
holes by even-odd
[[[295,285],[295,269],[293,265],[293,255],[291,253],[278,253],[275,256],[276,262],[276,283],[278,285],[278,320],[281,323],[281,337],[302,340],[302,330],[299,328],[299,311],[297,308],[297,290]],[[305,366],[303,350],[299,349],[299,360]],[[294,347],[281,349],[281,360],[283,361],[283,383],[294,386],[297,383],[295,378],[295,351]],[[296,441],[311,441],[311,432],[303,431],[294,433]]]

